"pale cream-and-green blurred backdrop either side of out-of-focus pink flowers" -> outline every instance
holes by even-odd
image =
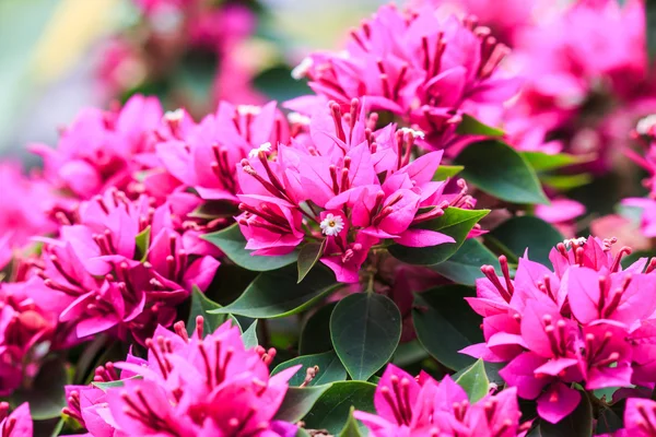
[[[259,3],[263,13],[244,56],[257,58],[265,73],[258,83],[267,87],[268,78],[281,79],[268,69],[293,66],[309,49],[336,47],[344,29],[382,1]],[[26,144],[55,143],[58,128],[82,107],[106,104],[95,76],[102,42],[132,25],[137,15],[129,0],[0,0],[0,156],[34,164]],[[280,98],[285,88],[292,95],[298,90],[289,86],[267,93]]]

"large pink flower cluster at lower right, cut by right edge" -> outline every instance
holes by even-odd
[[[656,260],[641,259],[622,270],[613,240],[577,238],[559,244],[553,271],[519,260],[512,280],[484,265],[471,307],[483,316],[485,343],[462,351],[489,362],[508,362],[500,375],[524,399],[537,399],[538,413],[555,423],[572,413],[586,390],[653,387]]]

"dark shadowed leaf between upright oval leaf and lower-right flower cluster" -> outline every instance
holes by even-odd
[[[458,351],[483,341],[481,317],[464,299],[475,296],[475,290],[464,285],[444,285],[414,296],[417,338],[435,359],[454,370],[475,362]]]

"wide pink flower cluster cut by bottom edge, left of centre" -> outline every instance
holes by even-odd
[[[199,318],[191,336],[183,322],[175,333],[157,327],[147,359],[96,369],[96,383],[113,383],[68,386],[65,414],[89,436],[295,436],[273,416],[301,366],[270,377],[274,350],[246,350],[230,321],[204,336],[202,327]]]

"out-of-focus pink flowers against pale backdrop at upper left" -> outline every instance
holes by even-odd
[[[201,51],[221,63],[213,78],[214,101],[261,99],[250,84],[251,66],[239,56],[239,47],[257,24],[247,2],[132,0],[132,3],[139,22],[109,38],[101,52],[97,75],[110,97],[163,82],[185,62],[185,57]]]

